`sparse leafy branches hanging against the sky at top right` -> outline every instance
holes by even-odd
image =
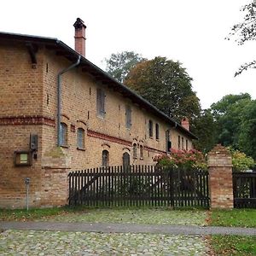
[[[244,44],[246,41],[251,41],[256,39],[256,0],[253,3],[244,5],[241,11],[245,12],[245,16],[242,22],[237,23],[231,29],[230,37],[237,36],[236,42],[240,45]],[[238,69],[235,73],[235,77],[241,74],[247,68],[256,68],[256,61],[247,62]]]

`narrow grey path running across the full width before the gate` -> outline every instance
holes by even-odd
[[[58,230],[104,233],[151,233],[168,235],[256,236],[256,229],[166,224],[93,224],[61,222],[0,222],[0,230]]]

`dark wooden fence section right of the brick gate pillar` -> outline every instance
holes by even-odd
[[[256,208],[256,172],[233,172],[234,207]]]

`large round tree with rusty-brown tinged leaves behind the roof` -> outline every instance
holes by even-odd
[[[133,67],[124,83],[166,115],[193,122],[201,107],[191,81],[178,61],[155,57]]]

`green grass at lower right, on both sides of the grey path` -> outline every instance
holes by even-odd
[[[212,226],[256,228],[256,209],[213,210]],[[256,236],[212,236],[216,255],[256,255]]]

